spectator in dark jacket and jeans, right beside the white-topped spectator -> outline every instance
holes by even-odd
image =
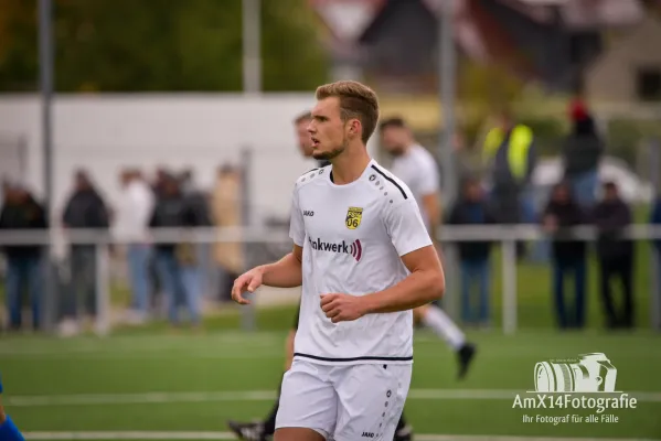
[[[168,175],[149,223],[152,228],[185,228],[204,226],[199,211],[190,204],[175,176]],[[163,291],[168,297],[168,315],[179,324],[179,301],[185,302],[193,325],[200,323],[201,278],[198,254],[191,244],[158,241],[156,263]]]

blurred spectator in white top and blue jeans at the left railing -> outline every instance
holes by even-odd
[[[121,174],[122,193],[118,205],[116,237],[127,244],[128,273],[132,293],[130,322],[142,323],[149,312],[151,292],[149,277],[149,219],[153,211],[154,195],[137,170]]]

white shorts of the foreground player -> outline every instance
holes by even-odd
[[[285,374],[278,428],[308,428],[327,440],[392,441],[412,365],[329,366],[295,359]]]

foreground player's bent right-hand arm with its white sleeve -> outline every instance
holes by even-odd
[[[388,207],[384,222],[411,273],[394,287],[362,297],[365,313],[406,311],[440,299],[445,292],[443,267],[415,201]]]

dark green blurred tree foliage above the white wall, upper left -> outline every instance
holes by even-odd
[[[39,85],[38,0],[0,0],[0,90]],[[60,92],[242,89],[242,0],[53,0]],[[262,1],[263,87],[309,90],[327,60],[306,0]]]

